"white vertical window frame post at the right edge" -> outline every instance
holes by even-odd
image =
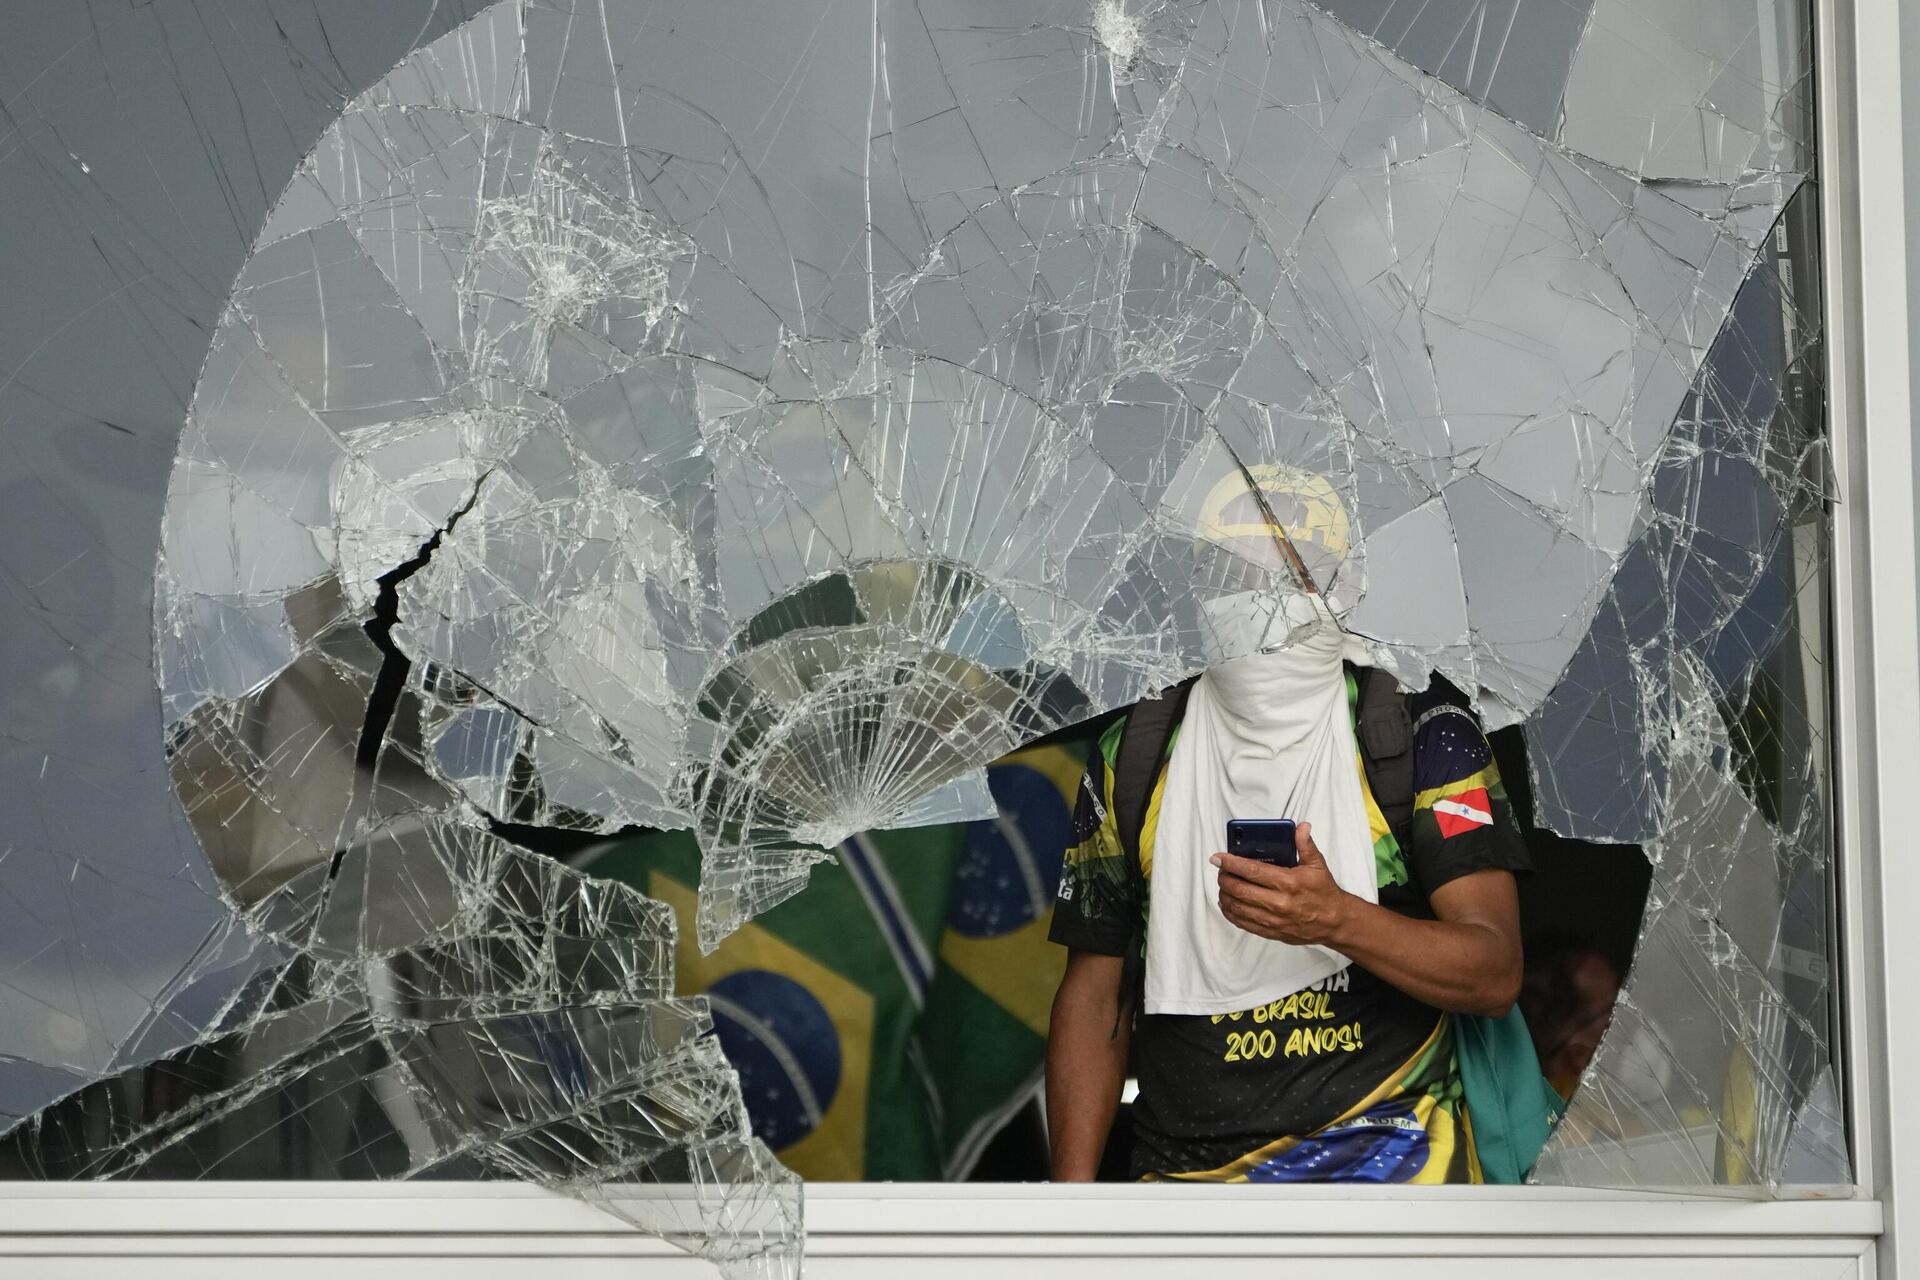
[[[1920,1054],[1920,864],[1897,798],[1920,777],[1914,296],[1920,23],[1901,0],[1816,0],[1816,111],[1834,518],[1834,764],[1847,1128],[1857,1196],[1884,1209],[1882,1276],[1920,1242],[1920,1107],[1893,1088]],[[1905,927],[1903,927],[1905,925]],[[1920,1244],[1910,1247],[1920,1274]]]

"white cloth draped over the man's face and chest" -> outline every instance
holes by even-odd
[[[1231,818],[1313,823],[1340,889],[1379,902],[1344,662],[1369,664],[1317,595],[1286,601],[1290,643],[1221,662],[1187,699],[1154,827],[1146,1013],[1235,1013],[1344,969],[1323,946],[1273,942],[1219,910]]]

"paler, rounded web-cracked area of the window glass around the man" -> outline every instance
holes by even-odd
[[[989,816],[991,760],[1244,652],[1225,578],[1281,626],[1202,537],[1252,466],[1338,495],[1379,664],[1655,860],[1542,1176],[1845,1169],[1801,25],[501,0],[420,48],[253,242],[167,495],[169,770],[275,958],[202,1040],[253,1071],[79,1173],[372,1061],[369,1169],[691,1180],[620,1211],[791,1270],[670,913],[503,833],[695,829],[710,948]]]

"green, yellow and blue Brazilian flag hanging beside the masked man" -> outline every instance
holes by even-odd
[[[998,818],[872,831],[712,956],[693,944],[687,831],[588,871],[674,908],[680,992],[705,994],[755,1132],[816,1180],[964,1178],[1039,1088],[1066,952],[1046,942],[1089,741],[987,770]]]

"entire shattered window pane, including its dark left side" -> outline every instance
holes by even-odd
[[[743,1272],[789,1169],[964,1176],[1033,1090],[1058,779],[1284,641],[1290,557],[1208,539],[1281,470],[1340,626],[1644,892],[1536,1178],[1845,1182],[1809,23],[35,10],[8,1167],[528,1178]],[[962,1098],[981,1000],[1025,1040]],[[925,1163],[849,1157],[906,1077]]]

